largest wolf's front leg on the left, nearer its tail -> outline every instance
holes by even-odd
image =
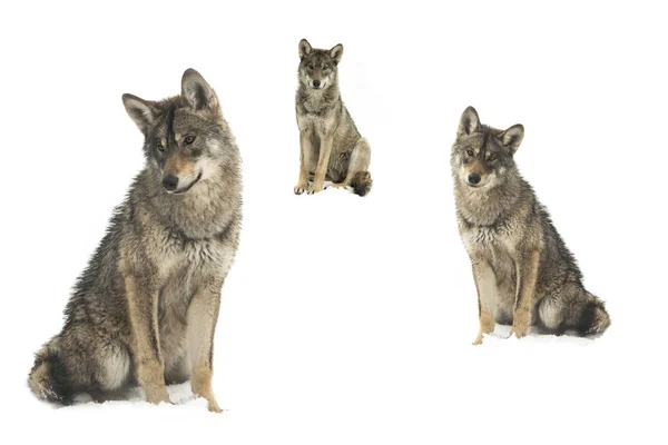
[[[165,362],[160,352],[157,287],[149,278],[137,275],[127,275],[125,285],[132,328],[131,349],[139,385],[147,402],[169,402],[165,386]]]

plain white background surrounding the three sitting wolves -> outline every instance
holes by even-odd
[[[542,2],[541,2],[542,3]],[[657,443],[666,438],[666,14],[627,2],[3,2],[4,437],[48,443]],[[294,196],[297,43],[343,43],[374,187]],[[120,96],[196,68],[243,155],[223,290],[222,415],[171,388],[53,409],[26,386],[143,166]],[[607,301],[601,338],[471,342],[449,155],[459,117],[523,123],[523,175]],[[662,414],[661,414],[662,413]],[[16,439],[14,439],[16,441]]]

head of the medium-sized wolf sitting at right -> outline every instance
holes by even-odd
[[[454,180],[473,189],[502,184],[509,172],[515,171],[513,155],[523,137],[521,125],[498,130],[481,125],[475,109],[466,108],[452,146],[450,162]]]

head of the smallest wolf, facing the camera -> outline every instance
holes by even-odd
[[[312,48],[306,39],[299,42],[299,81],[308,89],[324,90],[336,85],[338,62],[343,56],[343,44],[334,48]]]

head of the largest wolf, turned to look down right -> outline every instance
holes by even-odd
[[[219,174],[226,152],[227,123],[218,98],[199,72],[188,69],[181,93],[160,101],[124,95],[125,108],[144,134],[149,168],[169,194],[185,194]]]

